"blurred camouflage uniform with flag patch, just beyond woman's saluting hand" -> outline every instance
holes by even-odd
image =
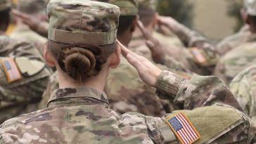
[[[139,5],[155,11],[155,5],[152,1],[155,0],[140,0]],[[193,32],[177,22],[177,32],[165,37],[165,39],[162,38],[163,36],[159,37],[159,34],[155,34],[155,32],[153,34],[160,41],[162,48],[165,48],[164,51],[167,55],[165,55],[163,64],[169,69],[177,72],[196,72],[203,75],[210,74],[214,70],[218,58],[217,53],[213,51],[215,47],[197,32]],[[145,43],[146,39],[141,34],[134,34],[129,48],[151,60],[151,51]],[[191,48],[188,49],[185,46]]]

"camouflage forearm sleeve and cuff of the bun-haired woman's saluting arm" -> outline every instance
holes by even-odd
[[[222,103],[243,112],[228,86],[219,77],[194,76],[187,80],[172,72],[163,71],[158,77],[156,88],[160,98],[173,100],[181,110]]]

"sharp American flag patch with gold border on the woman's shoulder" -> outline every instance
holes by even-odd
[[[167,123],[182,144],[191,144],[200,138],[198,131],[183,113],[167,119]]]

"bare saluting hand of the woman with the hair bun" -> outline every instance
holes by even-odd
[[[153,65],[153,63],[143,56],[129,51],[129,49],[122,45],[120,41],[117,41],[117,43],[121,48],[124,58],[126,58],[127,61],[136,68],[139,73],[139,77],[141,77],[141,79],[149,86],[155,86],[158,76],[161,74],[162,70]]]

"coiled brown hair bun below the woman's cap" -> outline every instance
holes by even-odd
[[[75,80],[82,80],[95,74],[96,58],[94,53],[84,48],[71,48],[65,53],[65,72]]]

